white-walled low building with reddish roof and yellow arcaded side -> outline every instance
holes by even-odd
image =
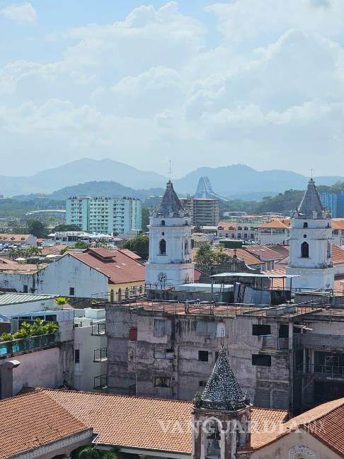
[[[34,272],[0,272],[0,289],[111,300],[144,293],[144,265],[130,251],[91,248],[67,251]]]

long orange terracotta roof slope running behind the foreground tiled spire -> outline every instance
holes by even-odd
[[[36,389],[35,392],[44,392],[83,424],[93,427],[98,434],[97,443],[192,452],[191,402],[58,389]],[[287,414],[285,410],[253,407],[252,446],[259,443],[267,422],[270,426],[279,425]]]

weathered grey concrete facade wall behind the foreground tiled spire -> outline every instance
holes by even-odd
[[[126,307],[127,308],[127,307]],[[171,333],[154,336],[154,321],[166,319]],[[217,331],[224,328],[224,346],[229,362],[242,389],[248,392],[256,406],[288,408],[289,351],[277,349],[279,324],[271,324],[273,338],[270,343],[262,336],[253,336],[252,325],[258,317],[205,317],[174,316],[162,312],[137,310],[136,313],[116,307],[107,309],[109,390],[128,393],[129,385],[136,382],[139,396],[190,400],[204,387],[214,366],[216,352],[221,347],[221,334],[215,337],[201,334],[200,322],[215,322]],[[137,326],[137,341],[129,340],[129,324]],[[202,327],[202,326],[201,326]],[[211,326],[210,326],[211,327]],[[157,358],[156,353],[173,350],[172,360]],[[208,351],[208,361],[198,360],[198,351]],[[267,353],[271,366],[252,365],[252,354]],[[170,378],[170,387],[154,387],[154,377]]]

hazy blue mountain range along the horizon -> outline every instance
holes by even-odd
[[[260,199],[291,188],[303,190],[309,180],[292,171],[256,171],[249,166],[236,164],[200,167],[180,179],[174,179],[174,187],[178,193],[192,195],[201,176],[209,177],[215,193],[229,198],[256,196]],[[137,193],[135,197],[139,198],[160,194],[167,180],[167,177],[156,172],[141,171],[112,159],[79,159],[33,176],[0,176],[0,193],[6,197],[40,193],[54,199],[80,194],[134,196],[132,193]],[[337,181],[344,181],[344,177],[318,176],[315,180],[317,185],[331,186]]]

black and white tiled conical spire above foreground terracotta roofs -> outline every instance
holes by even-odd
[[[239,382],[229,365],[226,351],[222,348],[212,374],[202,393],[200,407],[236,411],[250,405],[250,399],[243,394]]]

